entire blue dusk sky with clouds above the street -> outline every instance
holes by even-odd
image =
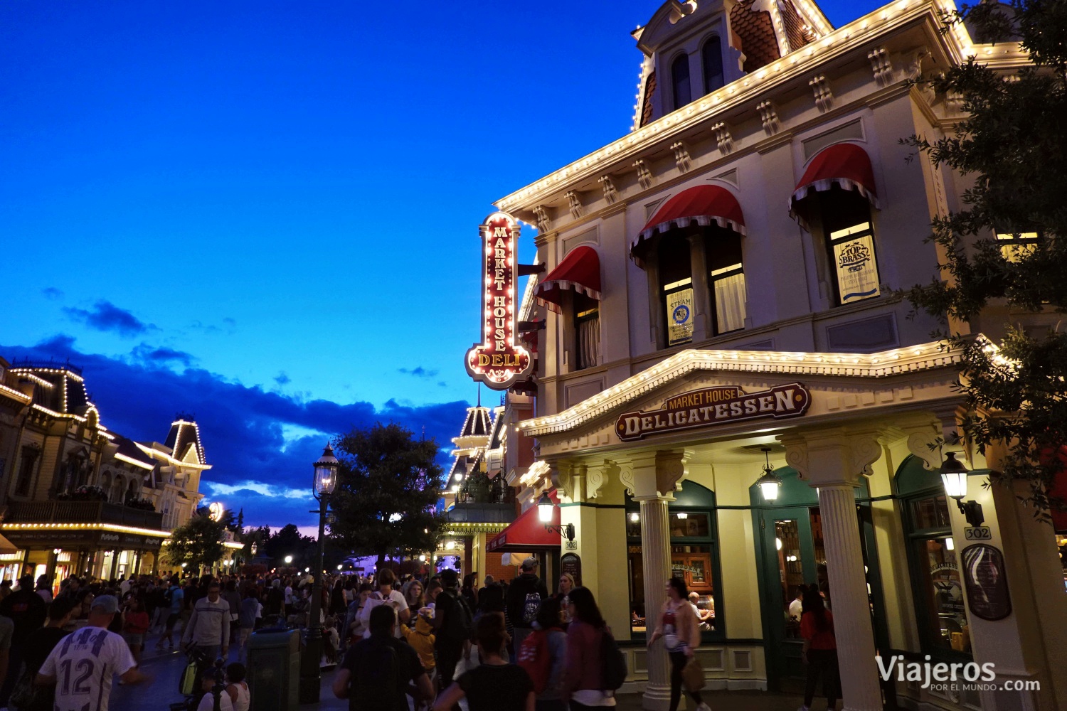
[[[195,415],[205,503],[248,524],[309,526],[351,426],[444,456],[477,395],[477,226],[628,131],[658,5],[0,4],[0,356],[69,358],[132,439]]]

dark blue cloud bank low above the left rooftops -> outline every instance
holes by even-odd
[[[109,357],[83,353],[67,335],[33,346],[0,344],[0,355],[34,360],[54,359],[82,368],[94,393],[100,421],[137,441],[162,441],[174,414],[196,413],[201,440],[212,466],[201,490],[237,511],[250,526],[310,526],[312,464],[322,453],[323,433],[338,435],[376,422],[396,422],[434,437],[448,460],[450,437],[462,424],[467,403],[412,405],[391,401],[341,404],[298,398],[260,386],[245,386],[195,365],[181,351],[144,346],[157,357]],[[139,353],[134,349],[134,353]],[[184,359],[189,358],[189,363]],[[180,363],[182,369],[173,369]]]

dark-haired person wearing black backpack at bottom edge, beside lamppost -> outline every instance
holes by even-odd
[[[418,661],[418,653],[394,634],[397,615],[391,605],[370,611],[370,636],[352,645],[337,667],[334,696],[347,698],[350,711],[408,711],[408,689],[415,684],[419,698],[433,698],[433,686]]]

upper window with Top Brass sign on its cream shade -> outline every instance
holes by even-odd
[[[871,205],[860,194],[837,185],[821,193],[819,200],[837,303],[851,304],[877,296],[881,287]]]

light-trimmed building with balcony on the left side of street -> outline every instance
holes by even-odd
[[[163,442],[100,422],[80,369],[0,360],[0,555],[4,579],[112,579],[159,568],[159,549],[203,498],[200,430],[178,417]]]

